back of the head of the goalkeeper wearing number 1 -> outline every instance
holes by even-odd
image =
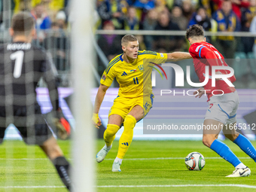
[[[29,12],[19,12],[14,14],[11,20],[11,28],[14,29],[15,35],[29,35],[35,27],[35,22]]]

